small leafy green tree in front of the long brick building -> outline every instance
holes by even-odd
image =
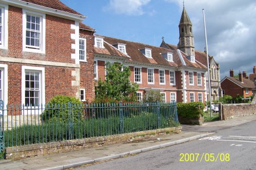
[[[139,86],[130,81],[131,70],[129,67],[124,67],[123,64],[107,62],[105,65],[106,80],[99,79],[98,85],[95,85],[95,101],[136,101],[136,92]],[[122,70],[123,68],[123,70]]]

